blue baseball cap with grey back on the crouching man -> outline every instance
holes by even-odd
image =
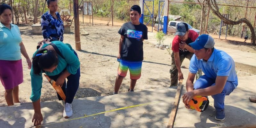
[[[202,48],[213,48],[214,47],[214,39],[212,36],[209,36],[207,34],[200,35],[196,38],[195,42],[192,42],[188,45],[190,45],[193,49],[199,50]]]

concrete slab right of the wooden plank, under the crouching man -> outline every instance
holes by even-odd
[[[249,96],[256,95],[255,82],[255,76],[238,78],[238,87],[225,98],[226,118],[224,121],[215,120],[214,116],[216,111],[213,106],[214,100],[212,97],[209,97],[210,104],[204,112],[188,110],[181,102],[177,111],[174,128],[217,128],[255,124],[256,103],[249,101]],[[185,88],[183,90],[183,94],[184,92],[186,92]]]

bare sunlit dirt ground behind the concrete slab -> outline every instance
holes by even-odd
[[[28,55],[32,58],[36,51],[38,41],[43,39],[41,35],[33,35],[31,25],[20,25],[20,32],[23,43],[26,47]],[[118,53],[118,44],[120,35],[117,33],[120,27],[112,27],[105,25],[80,24],[80,33],[83,30],[89,32],[90,35],[82,36],[81,51],[76,51],[81,62],[80,86],[76,92],[75,98],[105,96],[111,95],[114,89],[115,79],[117,75],[118,62],[116,61]],[[173,37],[173,35],[167,35]],[[75,49],[74,28],[71,28],[70,34],[64,34],[64,43],[69,43]],[[249,43],[239,41],[229,41],[215,39],[216,46],[228,47],[247,52],[255,52],[255,46]],[[142,75],[137,81],[135,91],[169,87],[170,84],[170,65],[171,57],[167,50],[160,50],[154,47],[154,44],[144,41],[144,60],[142,64]],[[31,102],[29,99],[31,94],[30,70],[27,68],[25,58],[22,56],[24,82],[20,84],[20,101]],[[188,65],[185,65],[188,67]],[[252,75],[238,71],[238,76]],[[119,93],[127,92],[130,85],[129,73],[124,78]],[[52,86],[43,78],[43,88],[41,101],[57,100],[56,92]],[[0,104],[5,103],[4,87],[0,84]]]

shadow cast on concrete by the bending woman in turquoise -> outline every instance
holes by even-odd
[[[51,122],[43,124],[46,127],[72,127],[72,128],[109,128],[111,125],[111,119],[108,116],[104,116],[105,114],[99,114],[94,116],[89,116],[92,114],[97,114],[100,112],[105,112],[105,105],[92,100],[79,100],[76,99],[73,101],[73,115],[70,118],[64,119],[61,117],[60,120],[51,121],[51,118],[48,118]],[[61,109],[62,110],[62,109]],[[84,117],[84,116],[89,117]],[[84,117],[84,118],[81,118]],[[44,117],[45,118],[45,117]],[[79,119],[77,119],[79,118]],[[68,121],[70,120],[70,121]],[[65,122],[63,122],[65,121]],[[55,123],[55,124],[53,124]]]

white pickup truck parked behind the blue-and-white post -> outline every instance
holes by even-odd
[[[176,32],[176,25],[177,25],[178,23],[180,23],[180,22],[182,22],[182,21],[169,21],[168,27],[167,27],[167,32],[175,33],[175,32]],[[183,22],[183,23],[186,23],[186,22]],[[188,24],[188,23],[186,23],[186,24]],[[162,24],[159,24],[159,31],[163,30],[163,28],[164,28],[164,24],[163,24],[163,23],[162,23]],[[200,33],[200,30],[197,30],[197,29],[195,29],[195,28],[192,28],[189,24],[188,24],[188,29],[189,29],[189,30],[194,30],[196,33],[198,33],[198,35],[199,35],[199,33]],[[155,30],[155,31],[158,30],[158,24],[155,24],[154,30]]]

